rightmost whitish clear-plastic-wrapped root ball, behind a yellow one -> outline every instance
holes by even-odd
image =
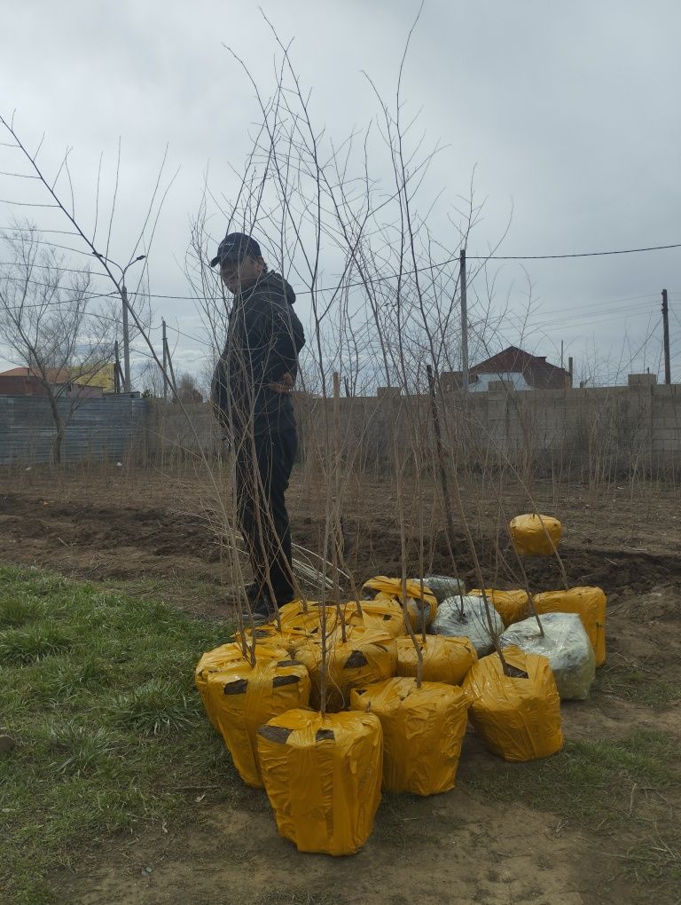
[[[544,634],[532,616],[507,628],[501,643],[546,657],[561,700],[586,700],[596,675],[596,658],[582,620],[576,613],[546,613],[540,619]]]

